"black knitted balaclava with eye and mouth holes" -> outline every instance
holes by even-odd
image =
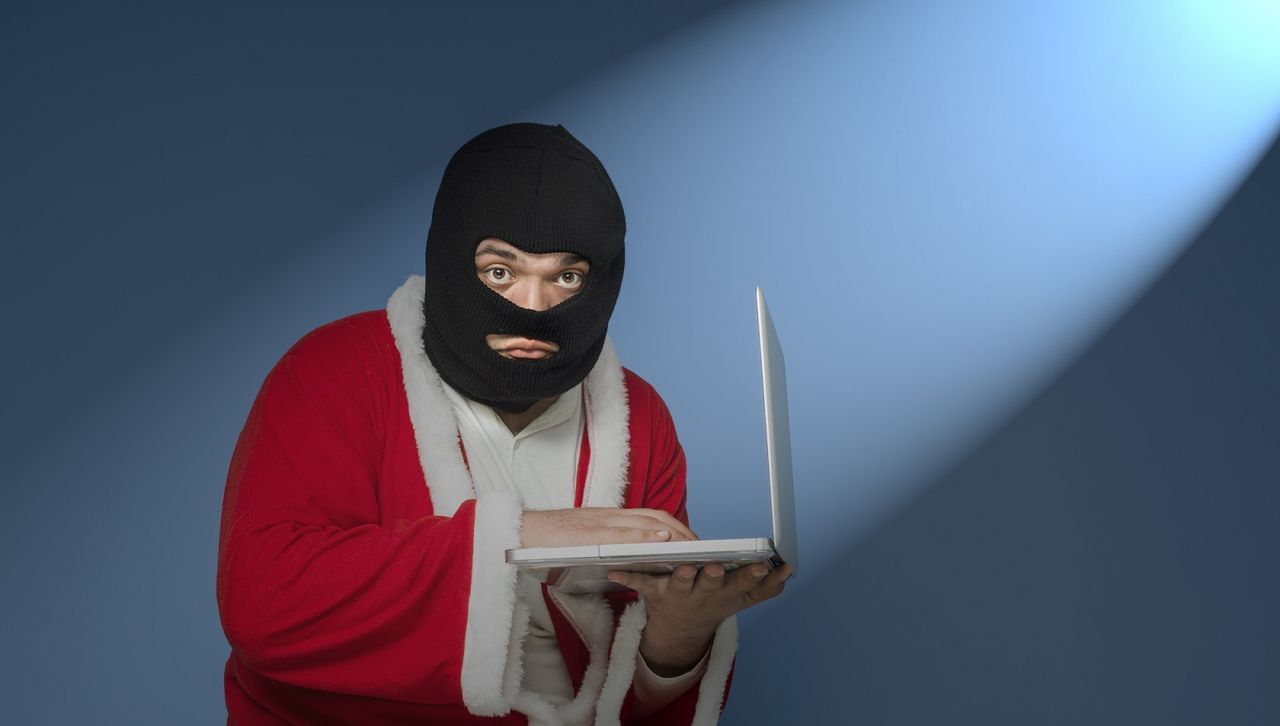
[[[426,236],[422,344],[445,383],[467,398],[525,411],[577,385],[600,356],[622,287],[622,201],[600,160],[564,127],[518,123],[462,145],[440,179]],[[495,237],[526,252],[590,262],[582,288],[543,311],[489,289],[476,246]],[[490,333],[559,346],[543,360],[508,360]]]

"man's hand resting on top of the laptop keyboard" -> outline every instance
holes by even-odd
[[[662,510],[582,507],[577,510],[526,511],[520,528],[522,547],[626,544],[687,539],[698,539],[698,535]]]

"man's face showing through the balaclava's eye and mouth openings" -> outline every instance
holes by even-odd
[[[476,246],[476,275],[489,289],[526,310],[548,310],[573,297],[586,283],[591,265],[570,252],[525,252],[490,237]],[[512,360],[541,360],[559,346],[521,335],[490,333],[485,342]]]

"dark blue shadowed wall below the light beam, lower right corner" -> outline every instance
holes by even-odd
[[[1050,389],[746,633],[727,721],[1280,722],[1277,198],[1280,145]]]

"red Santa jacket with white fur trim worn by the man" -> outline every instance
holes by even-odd
[[[232,644],[229,722],[621,723],[644,602],[548,593],[576,695],[520,688],[529,608],[503,553],[512,493],[476,496],[439,375],[422,352],[422,279],[387,311],[314,330],[268,375],[227,479],[218,604]],[[653,388],[611,344],[585,380],[577,506],[687,521],[685,461]],[[733,618],[707,674],[652,723],[714,723]]]

